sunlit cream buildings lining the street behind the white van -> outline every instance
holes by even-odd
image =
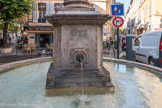
[[[125,34],[162,30],[161,0],[131,0],[125,16]]]

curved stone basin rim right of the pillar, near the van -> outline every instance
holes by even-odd
[[[115,63],[119,63],[119,64],[125,64],[125,65],[128,65],[128,66],[138,67],[140,69],[144,69],[144,70],[147,70],[147,71],[151,71],[152,73],[162,75],[162,68],[151,66],[151,65],[148,65],[148,64],[138,63],[138,62],[135,62],[135,61],[123,60],[123,59],[108,58],[108,57],[103,57],[103,60],[109,61],[109,62],[115,62]]]

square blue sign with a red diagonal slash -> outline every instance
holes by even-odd
[[[124,16],[124,4],[111,5],[112,16]]]

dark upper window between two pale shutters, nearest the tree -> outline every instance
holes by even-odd
[[[39,23],[46,23],[45,13],[46,13],[46,3],[39,3],[38,4],[38,11],[39,11]]]

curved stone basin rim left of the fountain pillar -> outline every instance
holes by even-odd
[[[3,65],[0,65],[0,74],[7,72],[12,69],[16,69],[18,67],[23,67],[31,64],[38,63],[41,60],[41,62],[51,61],[52,57],[42,57],[42,58],[34,58],[34,59],[28,59],[28,60],[21,60],[11,63],[6,63]]]

